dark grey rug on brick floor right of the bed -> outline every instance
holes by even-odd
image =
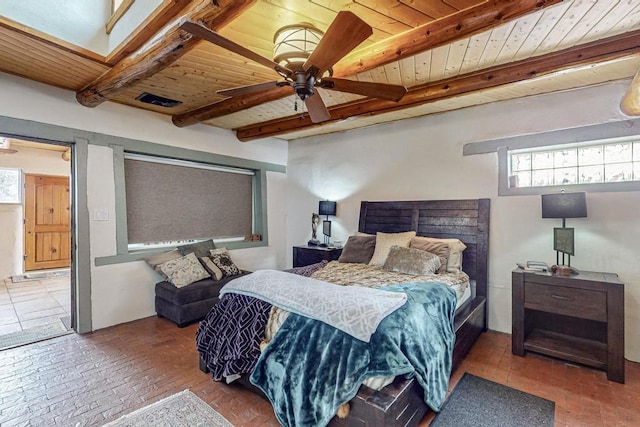
[[[552,426],[555,402],[465,373],[432,427]]]

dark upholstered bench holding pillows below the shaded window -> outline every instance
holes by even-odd
[[[249,273],[241,271],[240,275],[220,280],[203,279],[182,288],[167,281],[156,283],[156,313],[181,328],[202,320],[218,302],[220,289],[227,282]]]

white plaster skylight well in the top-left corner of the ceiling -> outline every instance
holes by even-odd
[[[101,55],[107,53],[109,0],[2,0],[0,15]]]

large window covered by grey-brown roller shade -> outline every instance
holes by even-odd
[[[125,153],[129,250],[255,233],[255,171]]]

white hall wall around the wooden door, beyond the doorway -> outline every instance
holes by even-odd
[[[70,162],[59,151],[13,146],[14,154],[0,155],[0,167],[22,169],[23,173],[69,176]],[[24,273],[22,205],[0,205],[0,279]]]

